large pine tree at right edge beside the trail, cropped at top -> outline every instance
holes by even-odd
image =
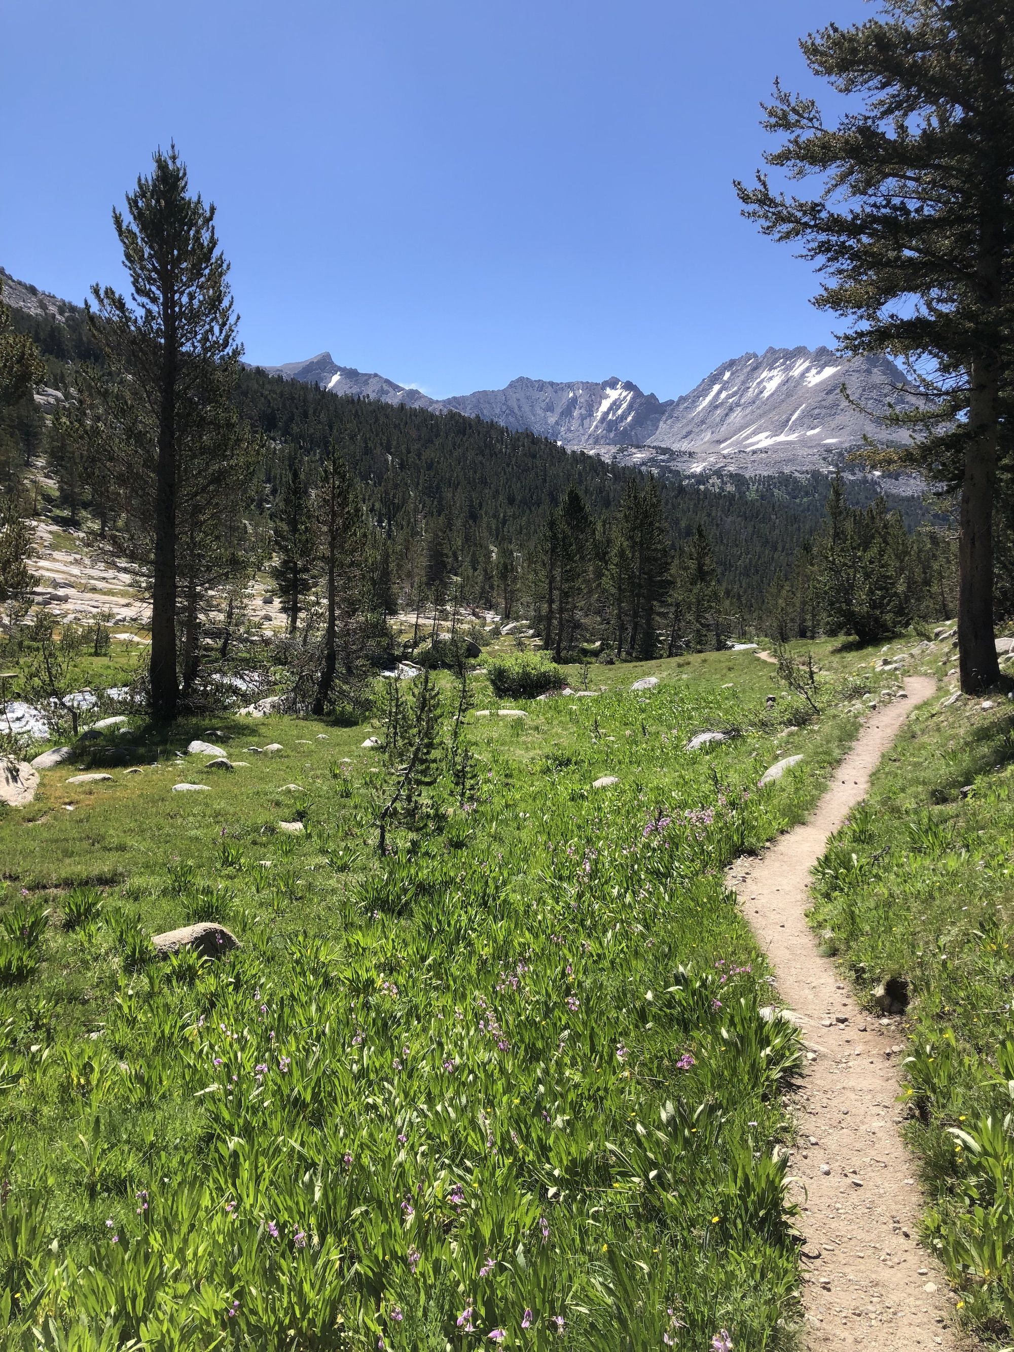
[[[960,493],[959,668],[975,694],[998,679],[992,511],[1014,408],[1014,26],[1007,0],[886,0],[882,18],[802,42],[810,69],[864,105],[826,126],[811,97],[776,87],[767,157],[814,199],[737,184],[746,215],[825,274],[817,304],[852,324],[846,352],[887,352],[937,396],[892,461]],[[919,370],[934,372],[933,380]],[[895,418],[896,423],[906,419]],[[911,422],[911,419],[910,419]],[[880,457],[882,462],[886,458]]]

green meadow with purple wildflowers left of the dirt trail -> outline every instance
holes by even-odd
[[[14,1340],[790,1340],[776,1146],[799,1044],[760,1013],[722,871],[806,815],[856,719],[767,711],[773,668],[749,653],[591,677],[599,698],[512,721],[477,683],[475,808],[384,861],[383,760],[360,745],[379,725],[137,727],[108,745],[157,767],[96,786],[61,767],[0,814],[0,922],[37,964],[0,995]],[[687,753],[707,729],[737,735]],[[177,761],[208,731],[249,767]],[[803,765],[757,792],[787,745]],[[277,830],[293,817],[306,834]],[[151,961],[146,936],[192,919],[242,948]]]

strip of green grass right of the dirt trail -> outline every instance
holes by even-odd
[[[894,645],[902,650],[907,645]],[[911,650],[909,648],[909,650]],[[936,650],[913,667],[953,665]],[[1014,1325],[1014,714],[945,687],[827,850],[813,922],[872,1005],[910,983],[904,1059],[927,1241],[979,1333]]]

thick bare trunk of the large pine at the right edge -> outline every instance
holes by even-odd
[[[972,368],[969,430],[957,534],[957,664],[961,691],[977,695],[999,680],[992,631],[992,506],[996,493],[999,370],[995,358]]]

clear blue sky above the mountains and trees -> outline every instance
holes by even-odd
[[[830,341],[741,219],[798,38],[861,0],[0,0],[0,264],[120,284],[110,211],[170,138],[218,204],[247,358],[434,396],[683,393]]]

